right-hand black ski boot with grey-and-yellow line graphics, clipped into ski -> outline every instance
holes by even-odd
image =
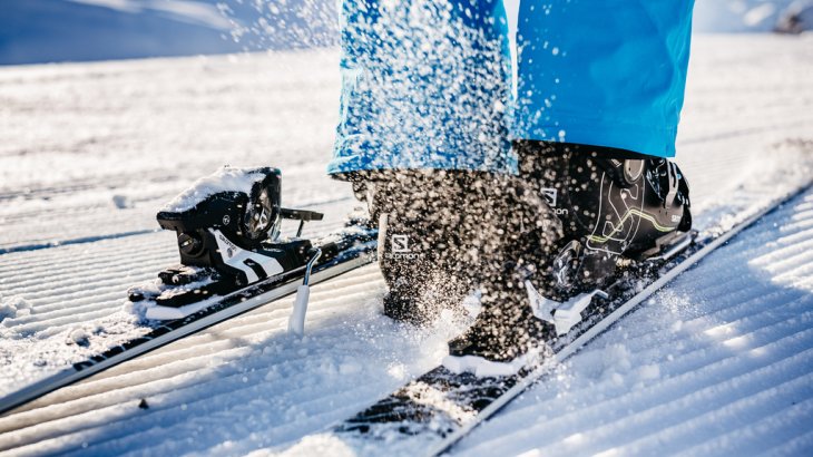
[[[456,371],[510,375],[543,358],[545,342],[607,299],[603,289],[625,268],[674,255],[692,241],[688,184],[674,163],[571,144],[521,142],[516,149],[518,192],[543,198],[540,214],[552,213],[558,224],[503,245],[516,261],[487,283],[493,292],[483,295],[474,324],[450,341],[444,364]],[[539,211],[522,204],[517,213]]]

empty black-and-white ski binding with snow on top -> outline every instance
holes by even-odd
[[[300,237],[303,224],[323,216],[283,208],[281,179],[276,168],[224,167],[169,202],[157,220],[176,233],[180,264],[130,289],[130,302],[146,303],[147,319],[177,319],[187,305],[305,269],[317,250]],[[295,237],[280,237],[283,218],[300,221]]]

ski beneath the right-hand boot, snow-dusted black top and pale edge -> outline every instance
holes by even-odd
[[[457,373],[441,364],[327,432],[303,441],[297,450],[337,446],[357,455],[438,455],[444,451],[677,275],[810,185],[770,202],[734,226],[699,233],[693,244],[660,265],[656,275],[641,275],[634,278],[635,281],[614,284],[606,291],[609,299],[595,300],[581,322],[549,342],[552,353],[549,352],[545,360],[537,359],[510,376]]]

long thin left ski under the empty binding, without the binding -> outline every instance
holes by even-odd
[[[310,284],[316,284],[340,274],[366,265],[375,260],[378,231],[374,229],[349,227],[344,232],[329,235],[317,243],[330,255],[316,262],[310,276]],[[37,382],[0,398],[0,412],[8,411],[61,387],[86,379],[118,363],[141,356],[148,351],[223,322],[257,307],[290,295],[302,285],[304,270],[272,276],[225,296],[210,299],[212,303],[183,319],[144,322],[147,331],[141,337],[112,346],[84,361],[58,371]]]

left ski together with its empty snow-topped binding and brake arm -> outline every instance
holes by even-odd
[[[225,167],[170,202],[158,222],[176,231],[182,263],[128,291],[139,336],[0,398],[0,414],[293,293],[288,331],[302,334],[308,286],[374,262],[378,230],[354,218],[301,237],[322,215],[283,208],[280,177],[275,168]],[[300,222],[296,236],[280,236],[283,218]]]

